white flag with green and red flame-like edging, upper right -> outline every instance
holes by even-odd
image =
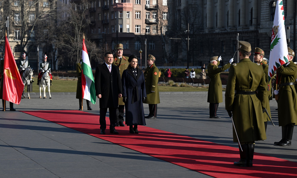
[[[274,71],[282,64],[289,62],[286,30],[285,12],[281,0],[276,1],[272,36],[270,44],[270,56],[268,66],[268,79],[270,80]]]

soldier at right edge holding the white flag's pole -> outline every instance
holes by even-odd
[[[297,67],[293,63],[295,53],[288,48],[289,62],[277,69],[278,90],[274,90],[275,95],[279,95],[277,101],[279,126],[282,126],[282,139],[274,142],[279,146],[290,146],[293,137],[294,125],[297,123],[297,94],[294,82],[297,77]]]

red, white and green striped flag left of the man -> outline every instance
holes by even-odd
[[[96,91],[95,82],[91,69],[91,64],[85,44],[85,39],[83,39],[83,52],[81,55],[81,85],[82,85],[82,96],[83,99],[91,101],[93,104],[96,103]]]

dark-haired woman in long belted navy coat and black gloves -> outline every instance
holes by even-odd
[[[138,67],[136,55],[129,56],[129,66],[122,74],[123,101],[126,109],[126,124],[131,134],[138,134],[137,125],[146,125],[143,101],[146,98],[144,75]],[[133,128],[134,125],[134,128]]]

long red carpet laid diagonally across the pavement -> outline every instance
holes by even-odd
[[[129,134],[127,126],[116,127],[120,134],[114,135],[109,133],[109,125],[107,125],[106,135],[100,135],[99,116],[83,111],[22,112],[212,177],[297,177],[296,162],[255,153],[254,166],[241,168],[233,165],[234,161],[239,160],[238,148],[146,126],[138,126],[140,134]],[[108,121],[107,117],[107,124],[109,124]]]

